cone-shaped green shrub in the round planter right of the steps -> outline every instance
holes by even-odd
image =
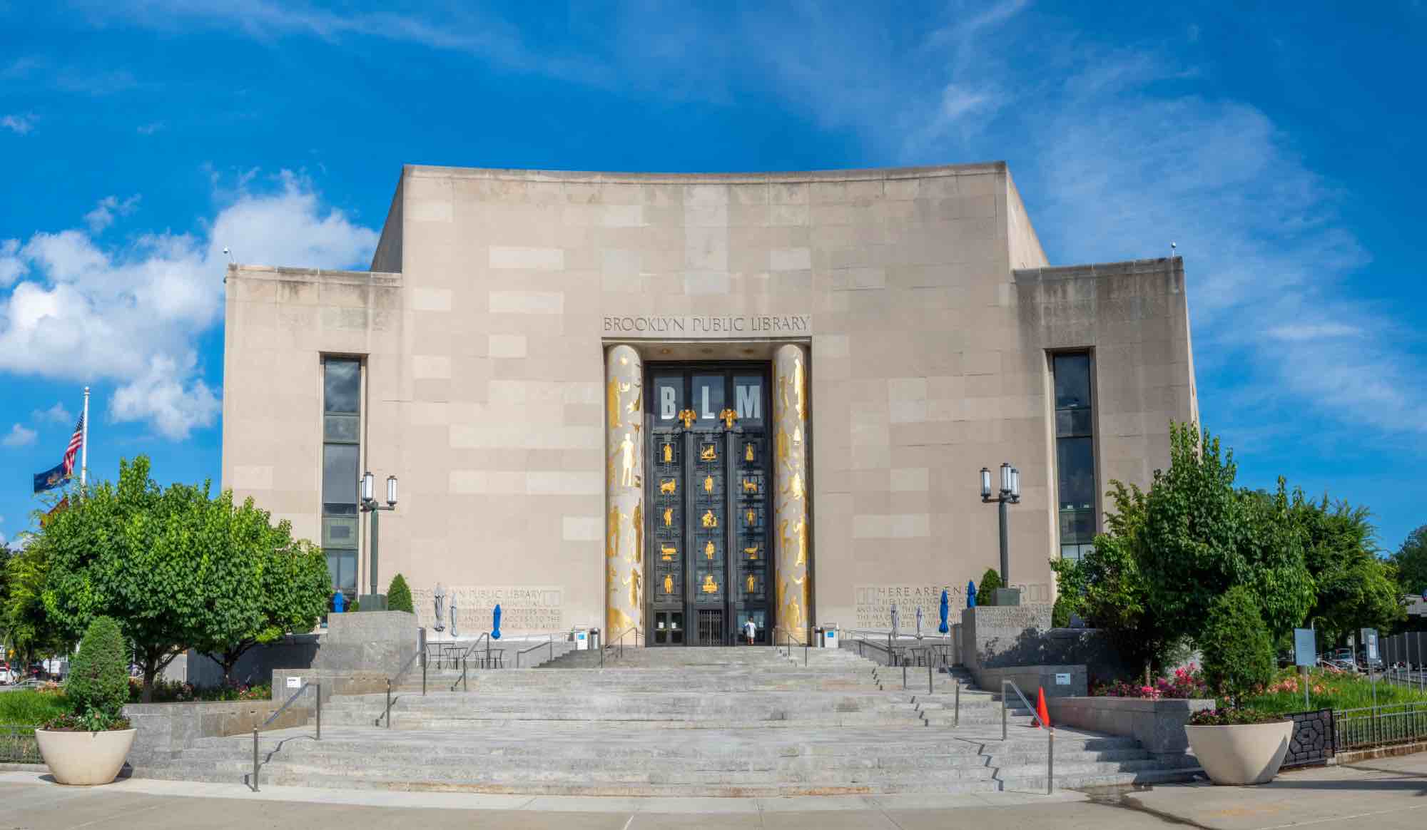
[[[1236,585],[1209,606],[1199,636],[1204,653],[1204,680],[1234,706],[1273,680],[1273,645],[1247,586]]]

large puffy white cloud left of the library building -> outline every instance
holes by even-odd
[[[304,177],[283,171],[267,188],[251,181],[200,234],[101,245],[63,230],[0,245],[0,268],[10,251],[29,272],[0,294],[0,372],[118,381],[110,415],[166,438],[210,426],[218,389],[201,378],[195,345],[221,317],[223,247],[248,262],[341,268],[364,265],[377,244],[375,231],[325,208]]]

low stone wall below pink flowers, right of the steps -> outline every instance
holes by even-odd
[[[1147,700],[1139,697],[1046,696],[1053,726],[1089,729],[1133,737],[1166,764],[1190,763],[1184,724],[1213,700]]]

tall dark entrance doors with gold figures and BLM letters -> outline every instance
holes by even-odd
[[[652,364],[645,503],[645,642],[771,642],[768,367]]]

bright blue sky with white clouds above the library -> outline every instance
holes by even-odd
[[[0,535],[90,469],[218,478],[221,277],[365,267],[402,163],[1006,160],[1055,264],[1184,255],[1240,482],[1427,523],[1427,6],[0,0]]]

